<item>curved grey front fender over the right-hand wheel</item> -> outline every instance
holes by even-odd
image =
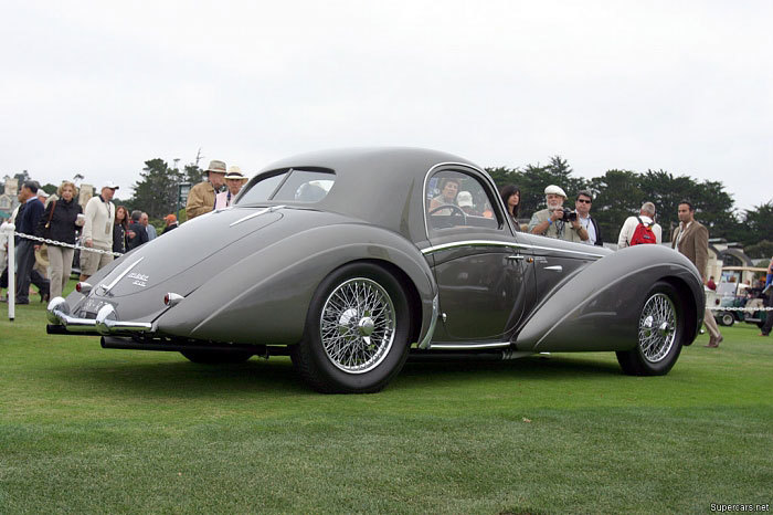
[[[682,292],[689,345],[702,320],[700,275],[684,255],[655,245],[623,249],[579,270],[525,323],[516,345],[532,351],[631,349],[645,296],[660,280]]]

